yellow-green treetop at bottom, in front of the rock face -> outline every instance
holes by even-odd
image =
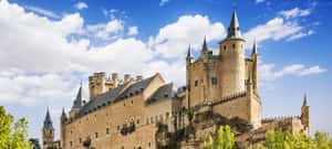
[[[220,126],[216,139],[209,136],[209,141],[204,143],[204,149],[235,149],[236,142],[229,126]]]

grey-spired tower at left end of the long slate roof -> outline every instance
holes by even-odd
[[[75,117],[75,115],[83,107],[84,103],[85,103],[85,96],[84,96],[83,87],[82,87],[82,84],[81,84],[80,89],[79,89],[77,95],[76,95],[76,98],[73,103],[72,109],[70,111],[70,119]]]

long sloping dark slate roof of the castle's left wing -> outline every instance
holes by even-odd
[[[123,94],[121,94],[122,91],[128,85],[129,82],[118,85],[117,87],[112,88],[104,94],[97,95],[94,99],[90,100],[83,106],[82,110],[79,113],[79,117],[142,93],[154,78],[154,76],[132,84]]]

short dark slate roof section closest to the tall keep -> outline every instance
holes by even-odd
[[[160,86],[158,91],[149,99],[145,102],[145,105],[151,105],[153,103],[157,103],[170,97],[176,97],[177,92],[178,88],[174,83],[169,83],[164,86]]]

